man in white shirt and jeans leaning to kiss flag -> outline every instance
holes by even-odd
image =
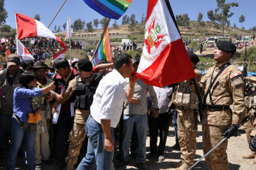
[[[132,78],[134,71],[132,57],[120,53],[114,59],[113,71],[100,80],[93,96],[91,115],[86,122],[88,148],[86,157],[77,167],[81,169],[115,169],[113,130],[120,120],[123,104],[130,103],[134,94],[137,78]],[[130,85],[125,92],[125,78],[130,78]]]

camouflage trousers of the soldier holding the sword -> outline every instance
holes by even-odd
[[[202,125],[203,151],[204,155],[209,152],[223,139],[223,133],[228,129],[228,125]],[[226,170],[228,167],[227,157],[228,139],[205,157],[206,164],[210,170]]]

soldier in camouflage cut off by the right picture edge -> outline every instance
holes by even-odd
[[[246,77],[246,81],[248,83],[246,84],[246,94],[244,97],[245,106],[246,106],[246,115],[249,115],[251,117],[251,120],[248,122],[247,128],[246,128],[246,138],[248,141],[248,144],[250,143],[250,134],[253,129],[253,122],[255,120],[254,112],[256,111],[256,97],[253,97],[253,92],[255,90],[256,86],[256,76],[252,77]],[[253,135],[254,136],[254,135]],[[256,163],[256,152],[249,153],[247,155],[243,155],[243,159],[253,159],[253,162]]]

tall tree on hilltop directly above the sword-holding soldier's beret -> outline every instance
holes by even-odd
[[[231,6],[238,6],[237,3],[225,3],[226,0],[216,0],[218,8],[215,9],[216,20],[222,25],[222,35],[224,36],[225,25],[228,18],[232,17],[234,13],[230,12]]]

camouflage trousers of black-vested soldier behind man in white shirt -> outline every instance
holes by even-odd
[[[68,138],[70,140],[70,145],[68,148],[68,155],[65,159],[65,161],[68,164],[77,163],[80,149],[83,145],[85,137],[86,137],[85,124],[77,124],[75,122],[72,131],[68,135]]]

